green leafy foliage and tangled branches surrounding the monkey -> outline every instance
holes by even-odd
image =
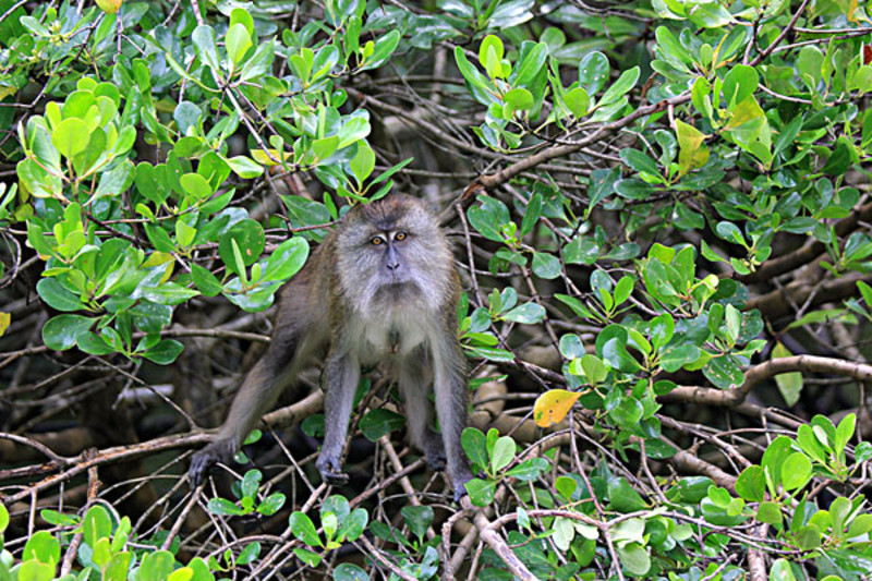
[[[847,0],[0,0],[0,578],[864,578],[870,93]],[[470,511],[368,378],[353,495],[317,396],[186,494],[391,190],[463,246]]]

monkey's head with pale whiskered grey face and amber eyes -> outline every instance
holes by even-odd
[[[342,294],[363,312],[378,307],[439,308],[453,258],[426,204],[391,194],[352,208],[337,230]]]

